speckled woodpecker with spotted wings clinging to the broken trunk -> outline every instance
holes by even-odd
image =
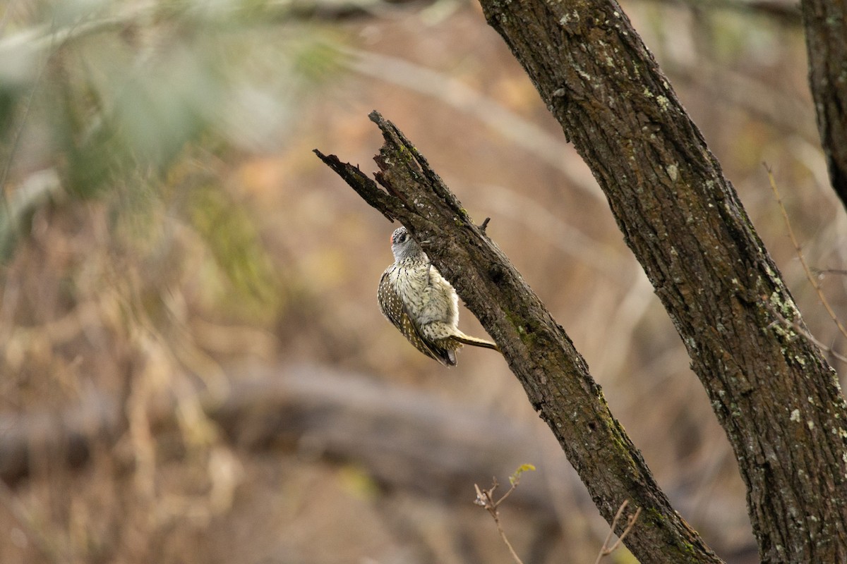
[[[382,273],[377,298],[382,315],[403,337],[421,353],[445,366],[456,365],[456,351],[462,345],[500,352],[495,343],[459,330],[456,290],[441,276],[406,227],[397,227],[390,241],[394,263]]]

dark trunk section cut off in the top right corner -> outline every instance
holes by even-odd
[[[809,85],[835,194],[847,207],[847,3],[803,0]]]

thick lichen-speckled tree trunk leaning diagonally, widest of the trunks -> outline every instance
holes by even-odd
[[[847,561],[838,380],[623,10],[613,0],[481,3],[594,172],[683,338],[739,461],[761,560]]]

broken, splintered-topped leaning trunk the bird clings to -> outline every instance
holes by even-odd
[[[315,152],[370,205],[405,225],[453,283],[500,346],[603,517],[612,523],[624,500],[631,512],[643,508],[626,537],[639,561],[720,561],[670,506],[584,359],[538,296],[394,124],[378,112],[370,118],[385,138],[375,161],[376,178],[387,191],[358,167]]]

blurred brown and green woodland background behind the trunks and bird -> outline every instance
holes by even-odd
[[[799,16],[744,4],[623,8],[843,349],[762,167],[806,260],[844,268]],[[374,170],[373,109],[491,217],[675,507],[756,561],[673,326],[477,5],[10,0],[0,25],[4,564],[505,563],[473,484],[523,463],[518,555],[595,560],[607,525],[501,357],[447,370],[379,314],[396,226],[312,153]],[[821,282],[842,314],[844,277]]]

